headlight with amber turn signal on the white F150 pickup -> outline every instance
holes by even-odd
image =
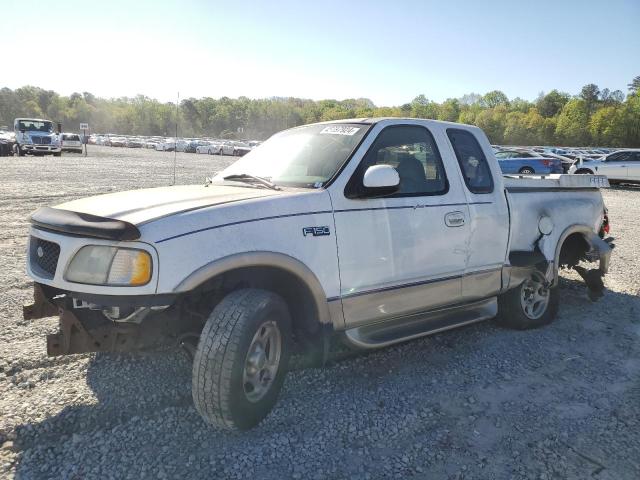
[[[151,256],[144,250],[99,245],[82,247],[73,257],[65,280],[90,285],[136,287],[151,280]]]

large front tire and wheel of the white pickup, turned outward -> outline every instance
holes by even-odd
[[[275,405],[287,373],[291,317],[259,289],[231,292],[211,312],[193,360],[196,410],[226,430],[247,430]]]

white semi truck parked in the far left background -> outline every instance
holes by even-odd
[[[27,153],[33,155],[54,155],[62,152],[61,125],[54,131],[53,122],[40,118],[16,118],[13,121],[16,135],[13,151],[22,157]]]

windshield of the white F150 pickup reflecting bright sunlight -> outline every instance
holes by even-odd
[[[333,123],[285,130],[218,173],[213,181],[245,174],[276,185],[320,187],[349,158],[369,128],[362,123]]]

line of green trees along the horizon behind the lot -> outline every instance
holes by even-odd
[[[477,125],[494,144],[640,147],[640,76],[620,90],[585,85],[577,95],[552,90],[534,101],[509,99],[494,90],[442,103],[418,95],[410,103],[378,107],[366,98],[187,98],[178,109],[143,95],[99,98],[69,96],[33,86],[0,89],[0,126],[16,117],[47,118],[75,131],[88,122],[93,132],[173,136],[176,119],[183,137],[264,139],[285,128],[359,117],[431,118]]]

